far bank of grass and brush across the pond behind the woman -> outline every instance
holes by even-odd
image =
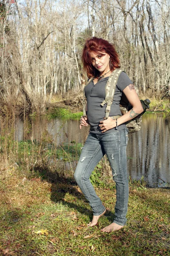
[[[35,110],[31,105],[25,107],[20,103],[10,105],[10,102],[0,102],[0,114],[6,116],[6,113],[15,114],[15,116],[43,116],[48,115],[52,118],[79,119],[82,116],[82,95],[76,92],[65,96],[56,95],[51,99],[51,103],[46,103],[44,108]],[[161,96],[140,95],[140,99],[150,99],[151,112],[170,113],[170,100],[168,98],[161,99]]]

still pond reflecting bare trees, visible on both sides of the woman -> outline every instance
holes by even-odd
[[[24,123],[16,122],[16,140],[24,139]],[[79,129],[79,120],[46,118],[32,123],[28,139],[39,139],[42,132],[48,135],[56,145],[62,143],[84,143],[89,128]],[[127,145],[128,175],[135,180],[144,177],[147,186],[170,186],[170,115],[163,113],[145,113],[140,131],[129,134]]]

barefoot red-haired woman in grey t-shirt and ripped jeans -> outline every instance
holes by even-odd
[[[74,177],[89,201],[93,210],[93,219],[88,226],[97,224],[105,214],[105,207],[96,195],[89,178],[95,166],[106,154],[110,162],[113,180],[116,183],[116,205],[113,223],[104,227],[103,232],[121,229],[126,224],[128,202],[127,157],[128,141],[127,128],[124,124],[142,113],[143,108],[132,81],[122,72],[119,76],[108,119],[105,119],[105,108],[100,104],[105,99],[105,84],[113,70],[120,67],[119,56],[113,45],[102,38],[92,37],[85,43],[82,62],[88,78],[94,79],[85,87],[87,98],[87,117],[81,117],[82,126],[90,125],[90,133],[82,149]],[[133,108],[119,119],[110,116],[121,115],[119,101],[125,93]]]

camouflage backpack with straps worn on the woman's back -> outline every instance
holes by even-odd
[[[106,110],[105,110],[105,118],[107,119],[109,116],[109,113],[111,111],[111,105],[113,102],[113,96],[115,93],[115,89],[116,89],[116,84],[117,81],[119,79],[119,75],[123,70],[121,69],[116,69],[111,73],[111,76],[109,76],[108,81],[106,83],[105,86],[105,99],[104,101],[100,104],[101,107],[103,107],[105,104],[107,104],[106,106]],[[91,79],[89,79],[88,83],[85,85],[87,86],[94,78],[92,77]],[[138,89],[136,89],[136,92],[138,93]],[[84,97],[83,97],[83,116],[86,116],[86,109],[85,109],[85,87],[84,87]],[[140,100],[142,107],[144,109],[144,111],[139,114],[138,116],[136,116],[134,119],[127,121],[125,124],[127,125],[128,128],[128,132],[129,133],[133,133],[136,131],[139,131],[141,128],[141,116],[145,113],[145,111],[147,110],[147,108],[149,108],[149,104],[150,104],[150,100],[149,99],[145,99],[145,100]],[[130,109],[132,108],[132,106],[130,105],[129,101],[127,100],[126,96],[124,93],[122,93],[122,97],[120,100],[120,110],[122,115],[124,115],[126,112],[128,112]],[[118,119],[119,117],[121,117],[120,115],[117,116],[111,116],[112,119]]]

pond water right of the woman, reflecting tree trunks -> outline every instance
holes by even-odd
[[[145,114],[141,131],[129,134],[127,156],[132,179],[144,176],[148,186],[170,182],[170,116]]]

